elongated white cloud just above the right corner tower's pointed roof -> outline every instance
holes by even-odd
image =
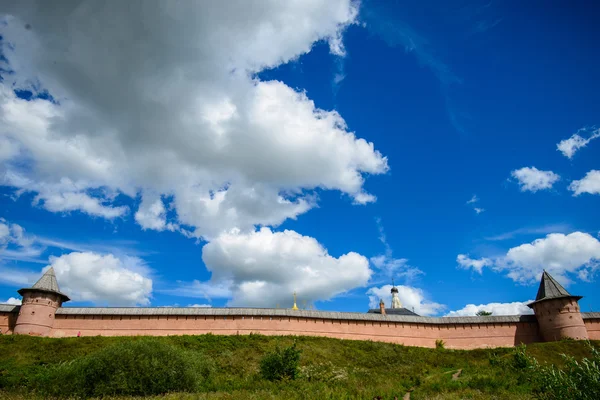
[[[472,268],[481,273],[483,267],[506,272],[515,282],[536,283],[545,269],[563,284],[571,282],[570,276],[589,281],[600,266],[600,241],[584,232],[568,235],[551,233],[508,250],[495,259],[470,259],[459,254],[460,268]]]

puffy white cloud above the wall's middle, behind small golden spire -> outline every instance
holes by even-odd
[[[171,294],[229,298],[230,306],[287,307],[294,291],[299,302],[328,300],[366,285],[372,273],[360,254],[336,258],[311,237],[269,228],[224,233],[204,246],[202,260],[211,280],[184,284]]]

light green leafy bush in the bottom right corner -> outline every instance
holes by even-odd
[[[540,366],[532,360],[534,395],[541,400],[597,400],[600,399],[600,351],[590,345],[591,358],[578,362],[562,354],[565,367]]]

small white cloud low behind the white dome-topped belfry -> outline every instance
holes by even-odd
[[[411,286],[396,286],[398,288],[398,297],[402,302],[402,307],[407,308],[419,315],[435,315],[443,311],[446,306],[427,300],[422,289]],[[392,295],[390,290],[392,285],[381,287],[372,287],[367,290],[369,296],[369,308],[379,308],[379,300],[382,299],[389,308],[392,304]]]

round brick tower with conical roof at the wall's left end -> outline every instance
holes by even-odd
[[[69,297],[60,292],[54,269],[50,267],[30,288],[19,290],[23,302],[17,316],[14,334],[48,336],[54,325],[54,316]]]

